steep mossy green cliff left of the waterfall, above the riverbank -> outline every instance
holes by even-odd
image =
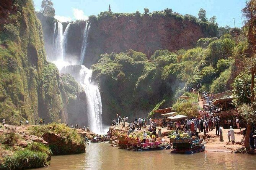
[[[14,3],[13,3],[14,2]],[[0,25],[0,119],[10,124],[45,119],[67,122],[80,88],[46,61],[42,26],[32,0],[4,0]],[[78,95],[77,95],[78,94]]]

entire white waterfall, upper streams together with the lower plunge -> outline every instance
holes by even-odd
[[[81,48],[81,54],[78,61],[67,59],[67,40],[68,32],[70,30],[70,24],[67,25],[63,33],[63,26],[60,22],[54,23],[54,34],[53,34],[53,49],[52,56],[48,57],[48,60],[54,63],[59,69],[60,73],[69,73],[75,80],[80,83],[86,94],[86,106],[85,117],[88,119],[88,126],[94,133],[106,133],[106,129],[103,130],[102,123],[102,103],[99,88],[92,80],[92,70],[82,65],[86,47],[88,32],[90,30],[90,23],[86,22],[85,30],[83,32],[83,44]],[[81,118],[82,119],[82,118]],[[84,126],[84,125],[80,125]]]

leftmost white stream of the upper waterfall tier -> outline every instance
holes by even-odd
[[[53,38],[53,56],[54,60],[64,60],[63,58],[63,26],[59,21],[54,23],[54,38]]]

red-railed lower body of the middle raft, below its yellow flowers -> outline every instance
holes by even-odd
[[[140,140],[127,138],[127,150],[130,151],[153,151],[170,149],[168,144],[162,144],[161,141],[142,143]]]

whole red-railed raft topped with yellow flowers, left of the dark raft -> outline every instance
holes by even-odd
[[[152,138],[151,138],[152,137]],[[152,151],[170,149],[169,144],[155,141],[155,135],[147,136],[146,142],[143,143],[142,136],[129,135],[127,137],[127,150],[130,151]]]

